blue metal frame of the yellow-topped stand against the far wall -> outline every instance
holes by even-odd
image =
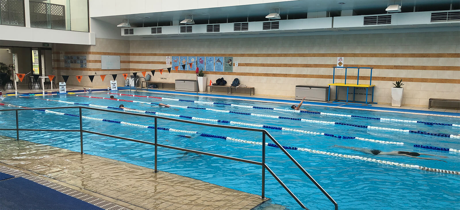
[[[372,67],[333,67],[333,73],[332,73],[332,83],[335,83],[335,68],[345,68],[345,85],[346,85],[346,74],[347,74],[347,68],[357,68],[358,69],[358,75],[357,75],[357,81],[356,81],[356,85],[359,85],[359,69],[360,68],[367,68],[367,69],[370,69],[371,70],[371,74],[370,74],[370,79],[369,79],[369,85],[372,85]],[[369,92],[369,88],[371,87],[366,87],[366,101],[365,102],[361,102],[361,101],[355,101],[355,94],[356,94],[356,90],[355,88],[353,88],[353,100],[352,101],[348,101],[348,91],[350,91],[350,87],[349,86],[346,86],[346,100],[338,100],[337,99],[337,94],[339,92],[339,86],[335,86],[335,99],[334,101],[330,101],[331,100],[331,85],[329,85],[329,94],[328,94],[328,102],[330,103],[341,103],[341,104],[355,104],[355,105],[367,105],[367,106],[372,106],[371,103],[377,103],[377,102],[374,102],[374,88],[375,86],[372,87],[372,97],[371,97],[371,101],[368,102],[368,92]],[[350,103],[350,102],[354,102],[354,103]]]

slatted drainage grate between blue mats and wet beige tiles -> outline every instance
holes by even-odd
[[[15,177],[26,178],[26,179],[28,179],[30,181],[39,183],[39,184],[44,185],[46,187],[50,187],[53,190],[56,190],[58,192],[70,195],[70,196],[72,196],[74,198],[77,198],[77,199],[80,199],[80,200],[85,201],[87,203],[93,204],[93,205],[95,205],[95,206],[97,206],[99,208],[103,208],[105,210],[130,210],[130,209],[127,209],[127,208],[125,208],[123,206],[111,203],[109,201],[96,198],[96,197],[88,195],[86,193],[82,193],[82,192],[79,192],[77,190],[74,190],[74,189],[71,189],[71,188],[68,188],[68,187],[64,187],[62,185],[58,185],[56,183],[49,182],[49,181],[44,180],[44,179],[40,179],[40,178],[38,178],[36,176],[31,176],[31,175],[23,173],[23,172],[21,172],[19,170],[10,169],[10,168],[2,166],[2,165],[0,165],[0,172],[10,174],[10,175],[15,176]]]

